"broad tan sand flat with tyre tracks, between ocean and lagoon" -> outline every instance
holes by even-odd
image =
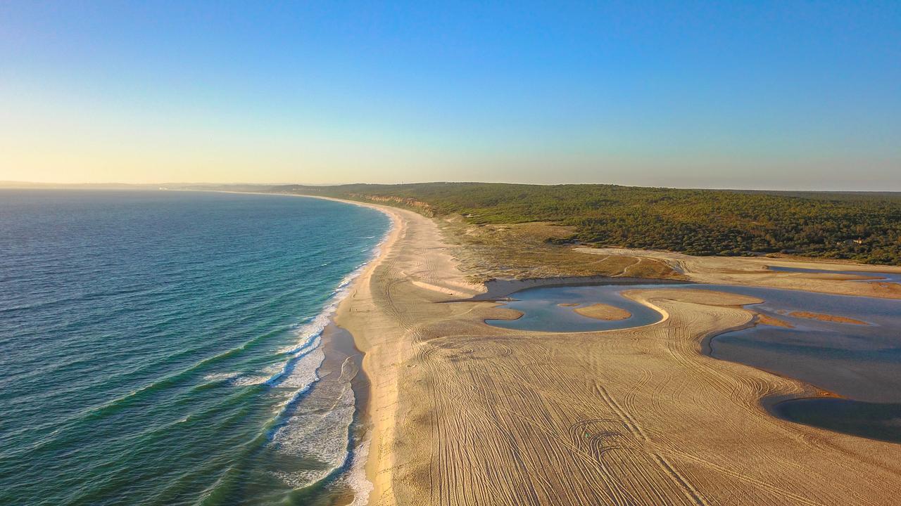
[[[764,404],[822,393],[702,353],[714,334],[752,324],[739,304],[755,299],[630,291],[664,320],[572,334],[492,327],[496,303],[442,303],[481,287],[436,225],[383,210],[396,228],[337,314],[372,384],[371,504],[901,497],[901,447],[778,420]]]

